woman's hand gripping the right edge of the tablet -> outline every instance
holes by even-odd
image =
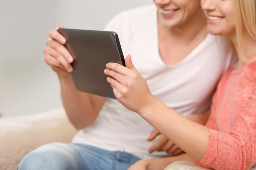
[[[125,59],[126,67],[117,63],[108,63],[104,70],[116,99],[131,111],[139,113],[156,99],[148,89],[145,79],[131,62],[131,56]],[[112,78],[113,77],[113,78]]]

